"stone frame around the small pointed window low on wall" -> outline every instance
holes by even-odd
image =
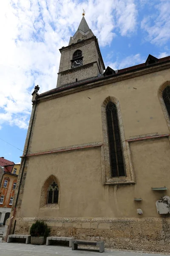
[[[58,203],[57,204],[48,204],[47,203],[47,197],[48,197],[48,188],[50,186],[50,184],[55,181],[55,183],[58,186]],[[42,185],[42,189],[41,189],[41,196],[40,196],[40,209],[59,209],[59,204],[60,204],[60,183],[58,178],[52,174],[49,175],[46,180],[44,181],[43,185]]]

